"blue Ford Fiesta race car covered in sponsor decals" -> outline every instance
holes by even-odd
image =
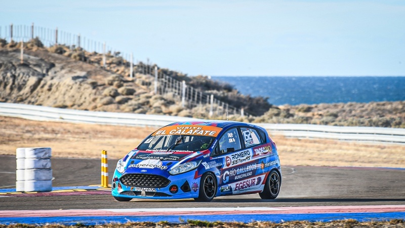
[[[232,121],[177,122],[153,132],[114,171],[117,201],[185,199],[259,193],[281,186],[277,147],[266,130]]]

